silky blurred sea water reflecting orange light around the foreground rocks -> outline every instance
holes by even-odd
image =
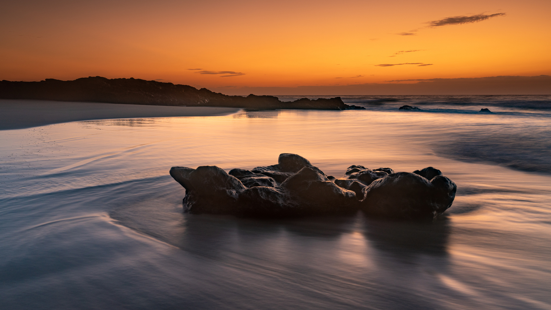
[[[551,98],[343,100],[366,109],[0,131],[0,308],[551,309]],[[279,153],[433,166],[457,196],[433,223],[182,212],[170,167]]]

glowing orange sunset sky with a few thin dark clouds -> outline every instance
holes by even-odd
[[[537,79],[551,75],[549,12],[548,0],[3,0],[0,79],[134,77],[225,93]],[[543,90],[518,92],[545,93],[538,81]]]

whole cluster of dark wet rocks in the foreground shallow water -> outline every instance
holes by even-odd
[[[327,176],[306,158],[283,153],[278,163],[226,173],[216,166],[172,167],[191,213],[254,217],[349,214],[433,220],[448,209],[457,186],[433,167],[413,173],[351,165],[344,176]]]

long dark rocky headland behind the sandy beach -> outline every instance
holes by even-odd
[[[134,78],[79,78],[74,81],[46,79],[40,82],[0,82],[0,99],[38,99],[121,104],[171,106],[225,106],[247,109],[348,110],[359,106],[344,104],[340,97],[280,101],[274,96],[247,97],[214,93],[189,85],[145,81]]]

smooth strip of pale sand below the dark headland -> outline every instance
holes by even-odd
[[[22,129],[84,120],[214,116],[235,113],[239,110],[237,108],[210,106],[164,106],[0,99],[0,130]]]

